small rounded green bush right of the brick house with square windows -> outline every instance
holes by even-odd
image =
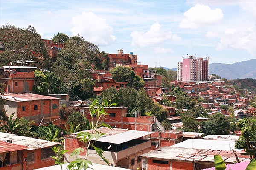
[[[88,130],[88,129],[90,129],[90,125],[89,125],[88,120],[80,112],[71,113],[70,116],[68,116],[67,124],[68,125],[73,124],[74,127],[77,127],[77,126],[80,125],[78,131],[79,130]]]

